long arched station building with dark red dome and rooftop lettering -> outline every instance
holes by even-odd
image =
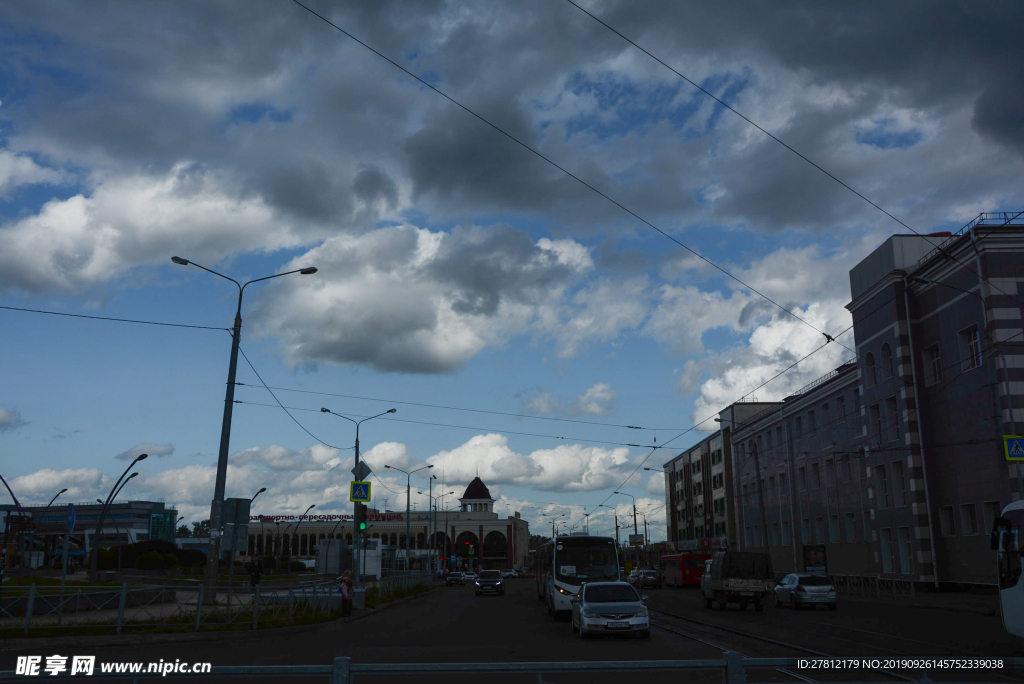
[[[415,556],[439,556],[441,563],[466,568],[523,567],[529,546],[529,524],[518,514],[505,518],[494,512],[495,500],[479,477],[459,499],[456,510],[410,511],[409,547]],[[380,544],[406,548],[406,513],[369,509],[367,536]],[[289,549],[293,558],[312,558],[325,540],[352,544],[352,516],[251,516],[249,544],[242,557],[275,554]],[[454,559],[454,560],[453,560]]]

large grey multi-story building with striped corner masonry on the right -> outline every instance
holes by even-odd
[[[986,532],[1024,491],[1002,443],[1024,424],[1022,282],[1024,222],[1009,214],[893,236],[857,264],[856,358],[756,415],[721,415],[738,546],[780,571],[813,548],[829,572],[992,584]]]

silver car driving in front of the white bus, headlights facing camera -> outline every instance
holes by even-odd
[[[650,637],[650,616],[628,582],[591,582],[572,598],[572,631],[581,639],[595,634],[635,634]]]

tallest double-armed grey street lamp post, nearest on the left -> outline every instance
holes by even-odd
[[[224,396],[224,417],[220,424],[220,453],[217,456],[217,478],[213,487],[213,501],[210,503],[210,542],[213,546],[213,553],[210,554],[207,560],[206,582],[210,589],[210,599],[216,602],[214,587],[217,582],[217,570],[220,566],[220,528],[223,526],[224,484],[227,480],[227,448],[231,441],[231,409],[234,407],[234,371],[239,365],[239,342],[242,339],[242,295],[245,293],[246,288],[253,283],[269,281],[270,279],[290,275],[291,273],[311,275],[316,272],[316,269],[311,266],[297,268],[285,271],[284,273],[257,277],[245,285],[241,285],[233,277],[228,277],[206,266],[201,266],[195,261],[182,259],[178,256],[171,257],[171,261],[180,266],[193,265],[197,268],[202,268],[208,273],[213,273],[225,281],[230,281],[239,289],[239,307],[234,312],[234,327],[231,330],[231,360],[227,368],[227,392]]]

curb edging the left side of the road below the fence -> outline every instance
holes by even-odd
[[[85,646],[136,646],[136,645],[150,645],[150,644],[176,644],[176,643],[187,643],[195,641],[207,641],[211,636],[215,635],[218,639],[228,638],[237,641],[245,641],[246,639],[262,639],[267,635],[281,636],[281,635],[291,635],[291,634],[302,634],[304,632],[312,632],[314,630],[337,630],[343,625],[348,625],[358,619],[369,617],[370,615],[377,614],[382,610],[387,610],[396,605],[400,605],[407,601],[412,601],[423,596],[427,596],[433,592],[435,587],[431,586],[429,591],[425,591],[422,594],[417,594],[415,596],[403,596],[400,599],[394,601],[388,601],[387,603],[382,603],[374,608],[364,609],[358,613],[354,613],[348,617],[337,617],[332,621],[324,623],[313,623],[312,625],[296,625],[295,627],[278,627],[264,630],[238,630],[238,631],[215,631],[215,632],[184,632],[184,633],[171,633],[171,634],[123,634],[121,636],[115,635],[97,635],[97,636],[69,636],[69,637],[42,637],[39,639],[34,639],[32,637],[24,637],[17,639],[6,639],[5,643],[0,646],[0,653],[11,652],[11,651],[25,651],[33,648],[66,648],[66,647],[85,647]]]

